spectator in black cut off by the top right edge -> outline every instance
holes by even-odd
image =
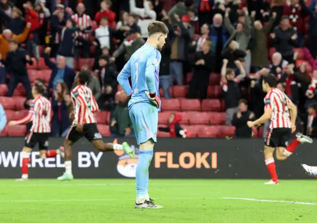
[[[308,28],[308,43],[309,43],[309,50],[314,59],[317,56],[317,5],[316,1],[311,1],[309,7],[306,6],[304,0],[299,1],[301,4],[301,8],[303,13],[309,15],[309,28]],[[305,25],[305,24],[304,24]]]

